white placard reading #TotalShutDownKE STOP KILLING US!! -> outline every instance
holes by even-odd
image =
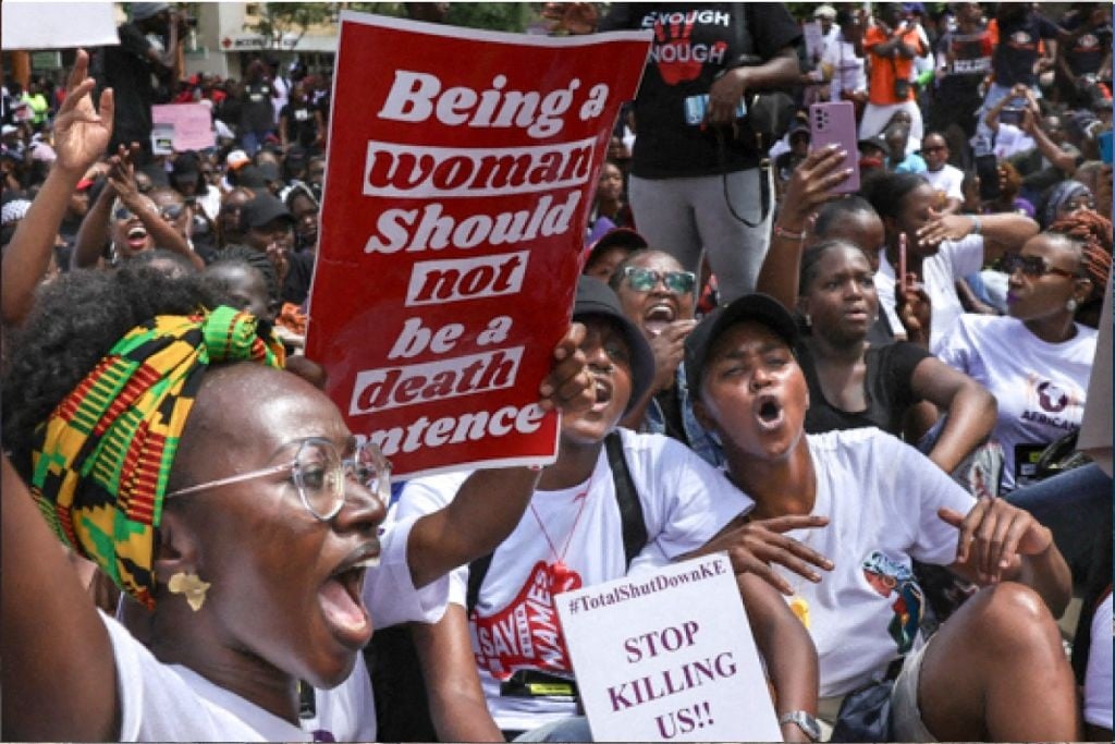
[[[782,741],[727,554],[554,599],[593,741]]]

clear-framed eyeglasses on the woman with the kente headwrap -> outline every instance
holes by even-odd
[[[309,437],[299,442],[298,452],[290,462],[191,485],[168,493],[166,497],[184,496],[283,472],[291,474],[302,505],[322,522],[337,516],[345,505],[346,479],[371,491],[385,508],[390,496],[391,464],[375,444],[360,444],[351,457],[341,458],[329,439]]]

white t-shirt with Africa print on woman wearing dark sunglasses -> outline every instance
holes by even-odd
[[[999,403],[991,437],[1002,445],[1002,487],[1018,487],[1029,472],[1016,447],[1037,452],[1080,427],[1096,354],[1096,331],[1047,344],[1008,317],[966,315],[938,349],[941,361],[986,387]]]

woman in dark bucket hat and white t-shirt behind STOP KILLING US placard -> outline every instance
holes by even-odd
[[[532,651],[500,650],[484,639],[502,618],[525,609],[527,590],[534,603],[549,605],[564,589],[653,570],[699,549],[749,508],[721,473],[677,442],[615,428],[648,389],[655,368],[646,340],[623,316],[614,293],[582,277],[573,317],[589,329],[581,348],[597,379],[597,405],[563,417],[558,461],[543,471],[530,513],[491,557],[479,586],[477,564],[454,572],[445,617],[411,628],[443,741],[503,741],[524,731],[534,741],[585,741],[583,719],[571,718],[578,709],[571,690],[532,694],[530,685],[515,684],[525,676],[527,682],[549,679],[549,690],[571,687],[575,670],[561,628],[529,620]],[[626,463],[647,533],[630,564],[618,505],[623,475],[610,464],[615,453]],[[462,477],[411,481],[399,501],[400,516],[442,506]],[[739,586],[777,690],[777,711],[812,715],[815,657],[806,634],[760,578],[741,576]],[[788,722],[783,734],[792,741],[805,736]]]

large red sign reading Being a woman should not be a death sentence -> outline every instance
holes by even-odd
[[[539,385],[649,41],[341,13],[307,356],[394,476],[553,461]]]

